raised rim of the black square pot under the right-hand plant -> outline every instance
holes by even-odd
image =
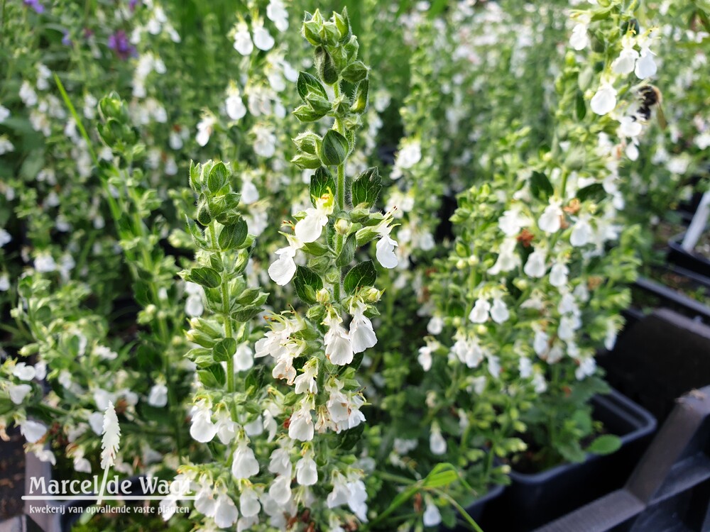
[[[642,406],[636,404],[631,399],[628,399],[625,395],[618,392],[616,389],[611,389],[611,392],[604,395],[596,395],[591,401],[595,404],[600,404],[605,406],[607,409],[623,412],[627,415],[635,417],[638,421],[638,428],[630,431],[623,436],[619,436],[621,439],[621,445],[626,445],[634,440],[648,436],[650,433],[656,430],[657,422],[654,416],[650,414]],[[512,467],[510,469],[510,478],[515,480],[515,482],[520,482],[521,484],[540,484],[540,482],[545,482],[553,477],[556,477],[561,472],[568,470],[570,468],[581,467],[588,462],[596,462],[600,458],[606,455],[595,455],[593,453],[586,453],[584,460],[582,462],[563,462],[550,469],[540,471],[537,473],[522,473],[515,471]]]

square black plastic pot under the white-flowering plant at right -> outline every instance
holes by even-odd
[[[513,470],[512,483],[491,508],[492,519],[481,523],[486,532],[530,531],[626,482],[655,431],[656,421],[616,391],[594,397],[592,404],[594,418],[621,438],[621,448],[611,455],[587,455],[584,462],[532,475]]]

